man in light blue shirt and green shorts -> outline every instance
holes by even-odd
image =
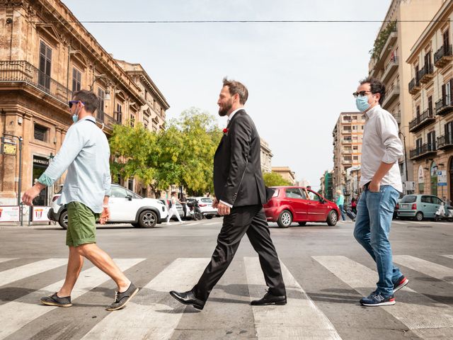
[[[96,125],[93,113],[98,97],[90,91],[78,91],[69,101],[74,124],[68,129],[63,145],[53,162],[35,185],[25,191],[22,200],[32,205],[33,198],[67,172],[61,204],[67,205],[67,241],[69,260],[62,288],[42,297],[43,305],[71,307],[71,291],[84,264],[84,257],[108,274],[117,284],[115,302],[107,310],[120,310],[138,292],[105,251],[96,245],[96,219],[108,221],[110,212],[110,148],[107,137]]]

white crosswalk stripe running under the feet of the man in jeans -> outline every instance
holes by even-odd
[[[362,295],[376,289],[377,273],[345,256],[313,256],[335,276]],[[384,310],[422,338],[453,339],[453,307],[404,288],[397,293],[401,300]]]

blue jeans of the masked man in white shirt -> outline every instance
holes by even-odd
[[[377,264],[377,290],[385,297],[392,295],[394,283],[402,275],[391,259],[389,232],[398,191],[381,186],[378,193],[366,190],[357,203],[354,237]]]

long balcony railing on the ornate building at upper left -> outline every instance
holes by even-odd
[[[0,61],[0,82],[29,84],[64,104],[72,97],[72,91],[25,60]]]

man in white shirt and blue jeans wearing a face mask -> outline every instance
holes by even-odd
[[[403,157],[403,145],[398,137],[395,118],[385,111],[385,86],[367,78],[360,81],[356,98],[357,109],[365,114],[362,140],[362,176],[364,188],[357,203],[354,237],[377,264],[377,290],[363,297],[364,306],[394,305],[394,293],[408,284],[391,257],[389,232],[399,193],[403,191],[398,159]]]

